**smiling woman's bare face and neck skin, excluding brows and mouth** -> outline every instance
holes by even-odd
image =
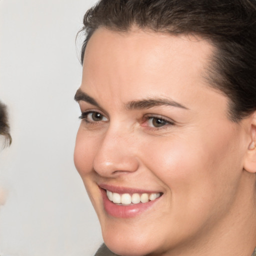
[[[135,28],[99,28],[87,44],[80,91],[98,105],[79,106],[101,115],[83,115],[74,162],[117,254],[250,256],[256,245],[256,118],[228,119],[228,98],[204,78],[213,50],[200,38]],[[183,107],[127,107],[156,98]],[[166,122],[155,127],[156,118]],[[163,194],[117,218],[104,210],[100,183]]]

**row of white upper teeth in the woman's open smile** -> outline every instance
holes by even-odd
[[[134,193],[134,194],[128,194],[128,193],[124,193],[124,194],[118,194],[118,193],[114,193],[111,191],[106,190],[106,195],[107,198],[114,202],[114,203],[122,203],[122,204],[131,204],[131,203],[139,203],[139,202],[148,202],[148,201],[153,201],[156,198],[158,198],[160,196],[160,193],[142,193],[141,195],[139,195],[138,193]]]

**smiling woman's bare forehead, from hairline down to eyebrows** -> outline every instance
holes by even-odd
[[[81,89],[99,100],[108,93],[122,102],[168,95],[189,107],[198,93],[202,100],[212,94],[205,77],[213,49],[191,35],[99,28],[85,49]]]

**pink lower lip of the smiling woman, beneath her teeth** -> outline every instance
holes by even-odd
[[[106,190],[100,189],[103,197],[103,205],[105,208],[105,211],[117,218],[129,218],[129,217],[134,217],[150,207],[160,198],[156,198],[152,201],[148,202],[143,202],[143,203],[136,203],[136,204],[131,204],[131,205],[119,205],[115,204],[112,201],[110,201],[107,196],[106,196]]]

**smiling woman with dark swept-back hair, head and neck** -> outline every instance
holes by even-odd
[[[83,31],[74,162],[96,255],[253,255],[255,0],[101,0]]]

